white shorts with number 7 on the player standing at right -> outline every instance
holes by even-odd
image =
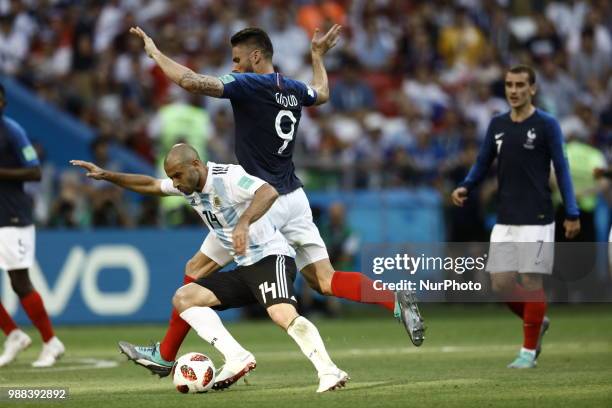
[[[555,223],[496,224],[491,232],[487,271],[551,274],[555,255]]]

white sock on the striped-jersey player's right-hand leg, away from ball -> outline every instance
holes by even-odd
[[[287,329],[293,340],[300,346],[302,353],[312,362],[318,373],[337,370],[336,365],[327,354],[323,339],[316,326],[308,319],[298,316]]]

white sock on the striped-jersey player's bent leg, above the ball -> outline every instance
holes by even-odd
[[[195,329],[198,336],[219,350],[225,361],[240,359],[249,353],[232,337],[210,307],[190,307],[180,316]]]

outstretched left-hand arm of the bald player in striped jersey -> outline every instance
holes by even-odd
[[[83,160],[70,160],[73,166],[82,167],[87,170],[86,176],[94,180],[105,180],[116,184],[119,187],[135,191],[140,194],[156,195],[165,197],[161,189],[161,180],[147,176],[145,174],[128,174],[108,171],[93,163]]]

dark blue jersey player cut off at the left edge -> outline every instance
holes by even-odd
[[[6,106],[0,85],[0,273],[7,271],[11,286],[26,314],[43,340],[40,356],[33,367],[50,367],[64,354],[64,345],[53,333],[51,321],[40,294],[32,286],[28,269],[34,263],[32,199],[23,189],[26,181],[40,180],[36,150],[17,122],[3,114]],[[7,335],[0,367],[12,362],[32,344],[0,303],[0,328]]]

